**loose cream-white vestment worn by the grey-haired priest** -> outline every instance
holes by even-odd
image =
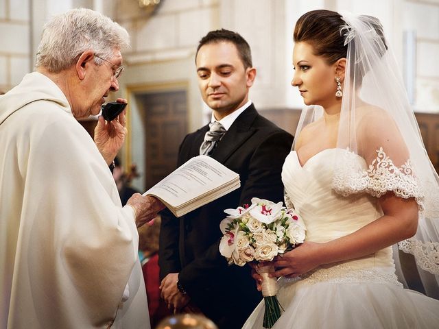
[[[0,328],[149,329],[134,211],[48,77],[0,96],[0,145]]]

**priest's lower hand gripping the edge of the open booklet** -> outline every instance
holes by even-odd
[[[150,195],[144,197],[140,193],[134,193],[126,204],[134,209],[134,217],[138,228],[156,218],[158,212],[165,209],[165,205],[156,197]]]

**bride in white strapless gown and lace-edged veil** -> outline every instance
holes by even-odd
[[[437,328],[439,301],[403,289],[392,258],[395,243],[414,254],[438,295],[439,178],[383,27],[315,10],[294,41],[307,107],[282,175],[307,239],[273,261],[285,309],[273,328]],[[262,328],[263,313],[262,302],[243,328]]]

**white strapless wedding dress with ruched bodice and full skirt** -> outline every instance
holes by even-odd
[[[333,191],[330,163],[340,159],[339,152],[346,151],[321,151],[303,167],[296,151],[285,160],[286,202],[291,201],[305,221],[307,241],[337,239],[382,215],[377,197],[343,197]],[[318,267],[298,279],[281,278],[278,285],[277,297],[285,311],[272,329],[439,328],[439,300],[403,289],[395,275],[392,247]],[[263,328],[264,310],[261,302],[243,328]]]

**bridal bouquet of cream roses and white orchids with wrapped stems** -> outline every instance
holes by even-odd
[[[271,261],[274,256],[293,249],[305,240],[305,224],[294,209],[287,209],[282,202],[252,198],[252,204],[224,210],[228,216],[219,228],[223,234],[219,252],[228,264],[244,266],[248,262]],[[264,328],[272,328],[281,317],[281,307],[276,297],[277,281],[270,278],[272,265],[259,268],[263,277],[262,295],[265,301]]]

